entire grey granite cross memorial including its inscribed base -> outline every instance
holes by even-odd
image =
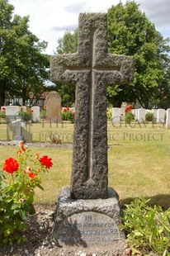
[[[78,52],[51,59],[51,80],[76,86],[71,187],[59,193],[52,234],[60,246],[112,247],[124,238],[107,180],[106,85],[130,83],[133,59],[107,53],[106,31],[106,14],[80,14]]]

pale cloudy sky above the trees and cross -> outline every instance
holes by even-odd
[[[78,28],[80,12],[107,12],[119,0],[8,0],[14,14],[30,17],[30,31],[40,40],[48,42],[45,53],[53,55],[59,38],[65,31]],[[125,3],[126,0],[121,0]],[[170,37],[169,0],[136,0],[139,9],[164,37]]]

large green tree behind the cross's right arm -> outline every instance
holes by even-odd
[[[169,40],[163,40],[134,1],[112,6],[107,20],[109,52],[133,55],[135,59],[134,82],[124,87],[108,87],[108,101],[120,106],[121,102],[135,102],[137,99],[142,107],[161,107],[162,88],[166,87],[170,96],[167,72]]]

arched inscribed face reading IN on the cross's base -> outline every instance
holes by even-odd
[[[64,219],[59,225],[57,239],[60,245],[111,244],[120,239],[119,229],[113,219],[95,211],[84,211]]]

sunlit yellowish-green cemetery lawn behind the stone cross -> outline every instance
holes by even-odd
[[[0,129],[4,132],[4,125]],[[38,141],[40,124],[32,125]],[[39,130],[38,130],[39,129]],[[65,129],[65,130],[64,130]],[[51,130],[46,127],[46,130]],[[62,128],[65,134],[73,133],[73,125]],[[113,135],[114,134],[114,135]],[[154,134],[154,136],[153,136]],[[144,139],[145,138],[145,139]],[[2,139],[1,139],[2,140]],[[72,142],[64,141],[64,143]],[[170,130],[161,126],[114,127],[108,123],[108,164],[109,187],[113,187],[120,196],[121,205],[136,197],[149,197],[150,203],[170,207]],[[31,147],[32,154],[47,154],[53,159],[49,173],[42,174],[45,191],[35,190],[35,204],[54,206],[59,189],[69,186],[72,168],[72,147],[55,145],[54,147]],[[0,163],[8,157],[15,157],[16,146],[0,146]]]

